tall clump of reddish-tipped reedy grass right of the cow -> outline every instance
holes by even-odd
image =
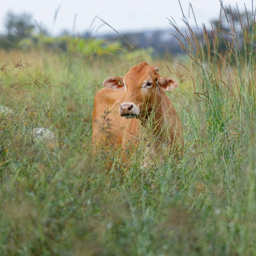
[[[255,13],[249,14],[245,7],[245,14],[242,19],[238,7],[233,10],[220,2],[219,21],[211,23],[210,30],[205,24],[195,30],[186,16],[185,30],[169,19],[177,32],[174,36],[191,60],[194,97],[212,140],[218,131],[227,131],[234,118],[255,114]],[[219,49],[223,44],[224,51]]]

